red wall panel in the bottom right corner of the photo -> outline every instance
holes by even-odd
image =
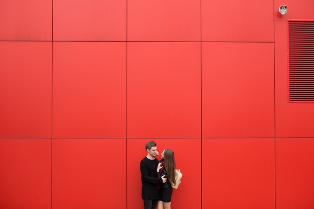
[[[314,139],[276,139],[276,209],[312,208]]]

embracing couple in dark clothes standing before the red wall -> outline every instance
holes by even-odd
[[[144,209],[171,209],[172,184],[176,184],[176,161],[172,149],[165,149],[162,159],[155,158],[159,154],[154,141],[145,144],[147,156],[140,161],[142,180],[142,199]]]

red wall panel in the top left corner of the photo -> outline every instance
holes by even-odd
[[[52,0],[2,1],[0,40],[49,41],[52,39]]]

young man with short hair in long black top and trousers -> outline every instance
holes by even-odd
[[[161,198],[157,184],[165,183],[167,178],[163,175],[158,178],[156,175],[159,160],[155,158],[158,155],[157,145],[154,141],[148,141],[145,145],[147,156],[140,161],[140,173],[142,175],[142,199],[144,200],[144,209],[155,209],[158,200]]]

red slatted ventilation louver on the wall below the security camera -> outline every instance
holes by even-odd
[[[289,101],[314,102],[314,21],[289,21]]]

